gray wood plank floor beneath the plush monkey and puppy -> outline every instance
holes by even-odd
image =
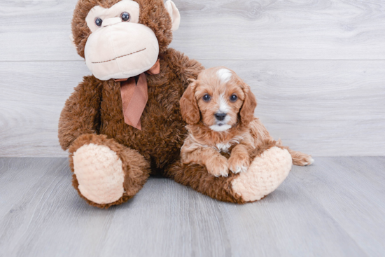
[[[66,158],[0,158],[0,256],[384,256],[385,158],[316,158],[252,204],[151,178],[88,206]]]

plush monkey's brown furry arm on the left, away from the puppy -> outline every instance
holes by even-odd
[[[94,76],[85,76],[60,114],[58,137],[63,150],[82,134],[97,134],[101,98],[102,83]]]

